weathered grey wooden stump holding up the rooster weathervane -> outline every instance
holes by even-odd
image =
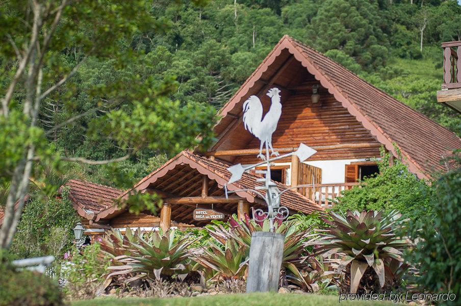
[[[251,235],[246,292],[278,290],[284,235],[254,232]]]

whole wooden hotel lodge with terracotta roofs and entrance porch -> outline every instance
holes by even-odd
[[[284,36],[236,94],[222,107],[214,127],[216,142],[206,152],[183,151],[129,190],[118,190],[90,182],[71,180],[69,197],[82,217],[88,234],[125,227],[155,230],[159,227],[200,227],[196,208],[213,208],[226,217],[236,213],[251,216],[251,208],[265,202],[251,191],[237,191],[225,198],[224,184],[232,164],[257,162],[260,142],[245,130],[243,102],[258,96],[267,112],[268,89],[281,90],[281,117],[272,135],[273,147],[287,153],[304,143],[317,153],[300,163],[297,158],[277,160],[271,177],[280,189],[295,188],[281,196],[290,212],[321,212],[332,198],[357,181],[377,171],[380,147],[391,156],[400,151],[408,170],[420,179],[441,170],[439,160],[461,139],[453,132],[375,88],[325,55]],[[255,174],[227,184],[228,190],[250,189],[261,183]],[[132,191],[156,192],[164,199],[157,216],[131,214],[114,205]],[[1,221],[0,221],[1,222]]]

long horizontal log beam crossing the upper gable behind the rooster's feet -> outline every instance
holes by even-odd
[[[359,143],[359,144],[340,144],[340,145],[330,145],[330,146],[314,146],[313,149],[317,151],[330,151],[330,150],[340,150],[340,149],[365,149],[365,148],[379,148],[381,144],[376,143]],[[276,148],[274,149],[278,153],[287,153],[296,151],[298,148]],[[263,149],[263,154],[265,154],[266,149]],[[258,154],[259,149],[242,149],[242,150],[221,150],[214,152],[207,152],[207,156],[234,156],[234,155],[252,155]]]

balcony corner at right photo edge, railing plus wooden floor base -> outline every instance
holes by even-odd
[[[443,84],[437,101],[461,113],[461,41],[442,43]]]

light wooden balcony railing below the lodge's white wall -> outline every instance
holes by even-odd
[[[341,197],[341,192],[349,190],[359,183],[342,183],[342,184],[318,184],[314,187],[300,187],[298,192],[305,197],[318,203],[322,207],[331,207],[332,200],[336,197]]]

